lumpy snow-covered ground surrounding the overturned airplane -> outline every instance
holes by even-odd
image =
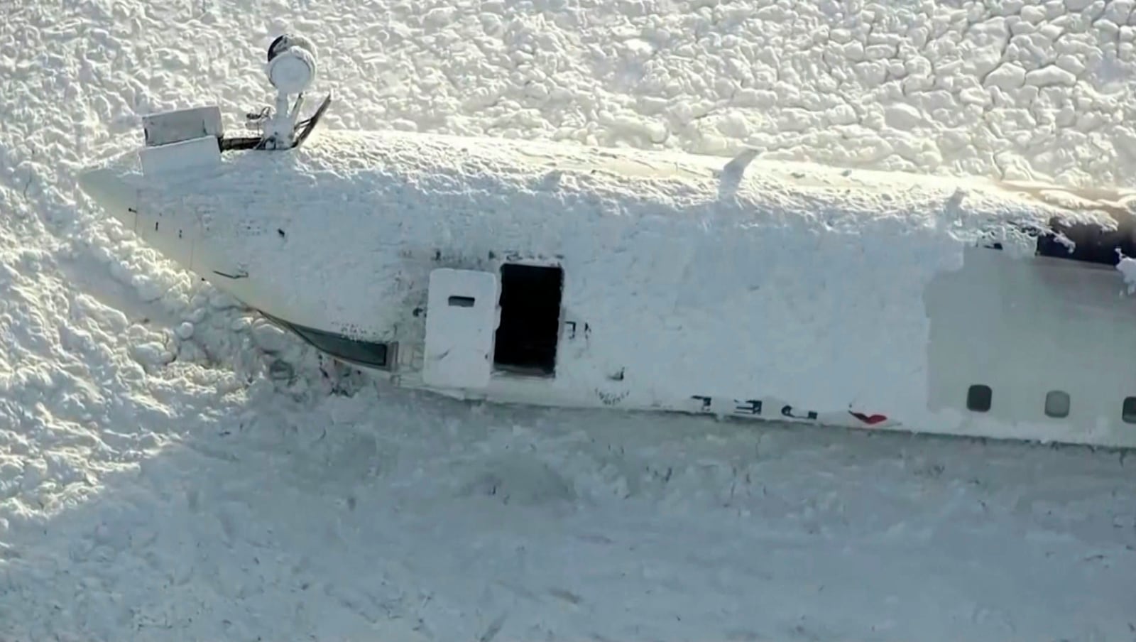
[[[1079,448],[328,395],[78,197],[137,115],[1131,186],[1133,2],[37,2],[0,22],[0,640],[1133,640]],[[289,381],[284,381],[289,380]]]

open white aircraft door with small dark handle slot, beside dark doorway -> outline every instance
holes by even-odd
[[[500,319],[495,274],[431,272],[423,381],[431,386],[479,389],[490,383]]]

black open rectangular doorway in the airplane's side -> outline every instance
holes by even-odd
[[[563,278],[560,266],[501,266],[501,323],[494,366],[518,374],[554,374]]]

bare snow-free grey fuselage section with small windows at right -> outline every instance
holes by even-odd
[[[983,434],[988,417],[1029,439],[1136,443],[1124,418],[1136,397],[1136,298],[1122,291],[1109,266],[968,250],[925,298],[932,409],[963,412],[962,434]],[[966,409],[972,385],[992,389],[988,411]]]

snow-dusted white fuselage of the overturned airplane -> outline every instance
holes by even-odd
[[[324,132],[160,175],[126,155],[84,187],[249,306],[383,345],[403,385],[1136,444],[1120,274],[1034,258],[1022,232],[1104,214],[977,180],[747,160]],[[1046,415],[1052,391],[1063,417]]]

